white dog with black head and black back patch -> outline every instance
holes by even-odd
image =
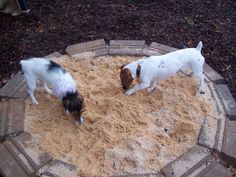
[[[76,124],[83,122],[82,111],[84,100],[78,93],[76,83],[70,73],[66,72],[59,64],[43,58],[21,60],[20,64],[33,104],[38,104],[34,96],[34,91],[39,80],[42,88],[47,93],[62,100],[66,114],[69,112],[77,113]]]

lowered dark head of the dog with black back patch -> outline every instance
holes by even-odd
[[[76,113],[76,124],[83,123],[82,112],[84,110],[84,99],[78,92],[67,92],[66,95],[62,98],[62,104],[65,108],[65,112],[68,114]]]

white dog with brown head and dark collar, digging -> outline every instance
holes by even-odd
[[[201,54],[202,42],[196,48],[177,50],[165,55],[151,56],[121,66],[120,79],[123,90],[129,89],[134,79],[139,79],[139,84],[126,91],[126,95],[146,89],[151,92],[159,80],[173,76],[181,69],[190,67],[198,78],[198,91],[204,93],[203,65],[205,58]]]

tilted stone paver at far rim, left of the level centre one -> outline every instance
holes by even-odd
[[[66,52],[75,59],[98,57],[108,54],[108,46],[104,39],[70,45]]]

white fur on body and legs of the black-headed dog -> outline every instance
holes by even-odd
[[[68,72],[61,68],[54,71],[48,71],[49,60],[43,58],[31,58],[20,61],[24,77],[28,84],[28,93],[33,104],[38,104],[34,96],[34,91],[39,80],[42,88],[49,94],[62,99],[66,92],[76,92],[76,83]],[[49,89],[51,88],[51,89]]]

